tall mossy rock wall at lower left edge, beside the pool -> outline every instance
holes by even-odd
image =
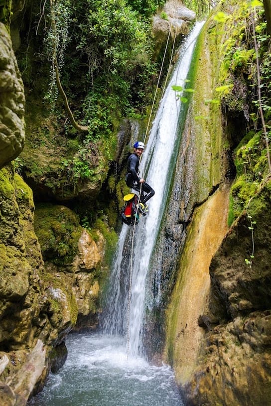
[[[44,271],[33,217],[31,189],[12,166],[1,169],[0,381],[7,393],[1,398],[3,405],[16,396],[26,402],[36,383],[44,382],[56,362],[51,352],[57,352],[78,315],[72,286],[54,285]],[[37,343],[40,351],[35,352]]]

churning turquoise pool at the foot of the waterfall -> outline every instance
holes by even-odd
[[[96,334],[67,337],[68,358],[28,406],[182,406],[168,366],[127,359],[123,338]]]

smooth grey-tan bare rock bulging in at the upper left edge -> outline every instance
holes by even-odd
[[[0,168],[24,146],[24,90],[12,44],[0,23]]]

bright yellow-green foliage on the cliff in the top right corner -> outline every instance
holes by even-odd
[[[251,87],[253,93],[257,94],[255,88],[258,86],[256,75],[256,49],[252,29],[255,20],[256,41],[260,45],[257,49],[261,61],[261,91],[263,110],[266,113],[266,120],[271,117],[271,60],[269,50],[270,35],[267,31],[267,23],[263,20],[264,7],[261,1],[249,1],[236,4],[231,1],[231,12],[229,14],[218,11],[214,20],[219,24],[220,32],[225,35],[224,45],[221,49],[222,64],[220,68],[220,83],[222,86],[231,85],[233,88],[233,77],[244,76],[244,86]],[[233,110],[244,110],[242,102],[238,103],[230,93],[223,96],[226,103],[232,103]],[[259,100],[253,101],[259,107]]]

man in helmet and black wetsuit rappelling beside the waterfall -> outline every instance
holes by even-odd
[[[134,144],[134,152],[129,156],[127,162],[127,174],[125,181],[127,186],[139,192],[138,210],[142,215],[146,215],[146,202],[154,195],[154,190],[144,179],[139,178],[139,158],[144,151],[145,145],[141,141]],[[141,190],[140,190],[141,189]]]

